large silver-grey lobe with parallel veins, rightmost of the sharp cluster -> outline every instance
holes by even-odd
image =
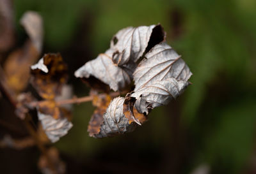
[[[180,55],[166,43],[159,43],[153,47],[140,62],[134,71],[135,89],[151,85],[166,78],[175,78],[177,81],[188,81],[192,75]]]

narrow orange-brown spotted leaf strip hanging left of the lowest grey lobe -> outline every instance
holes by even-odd
[[[93,112],[93,115],[90,119],[88,125],[88,133],[90,136],[94,136],[95,134],[99,134],[100,125],[103,122],[103,114],[106,112],[108,105],[111,101],[111,97],[108,94],[101,96],[94,96],[92,104],[93,106],[97,106],[96,110]]]

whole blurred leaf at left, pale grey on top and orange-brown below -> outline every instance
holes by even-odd
[[[42,18],[34,11],[26,12],[20,20],[28,33],[29,39],[22,48],[12,52],[6,62],[4,71],[8,77],[8,85],[16,93],[24,90],[29,81],[29,66],[34,64],[42,50],[43,24]]]

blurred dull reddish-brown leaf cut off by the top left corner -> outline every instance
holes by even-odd
[[[0,1],[0,53],[8,51],[14,41],[14,22],[12,1]]]

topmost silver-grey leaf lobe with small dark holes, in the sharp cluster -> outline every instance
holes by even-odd
[[[161,25],[127,27],[118,31],[110,44],[110,48],[114,50],[113,61],[118,66],[138,61],[145,52],[155,27],[161,27]]]

